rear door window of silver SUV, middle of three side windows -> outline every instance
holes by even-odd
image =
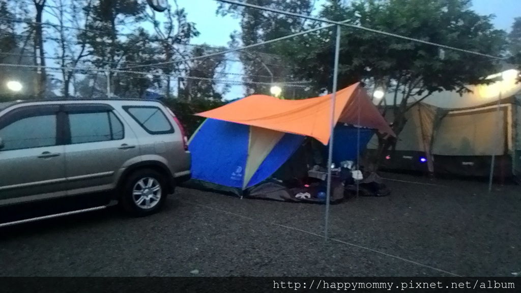
[[[69,113],[70,143],[123,139],[123,125],[112,112]]]

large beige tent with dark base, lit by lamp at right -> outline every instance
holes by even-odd
[[[521,174],[521,83],[512,79],[471,89],[473,93],[463,96],[435,93],[414,105],[406,113],[407,123],[382,167],[489,176],[495,156],[494,177]],[[386,111],[388,121],[393,121],[392,114],[392,109]],[[374,137],[368,144],[369,152],[377,147]]]

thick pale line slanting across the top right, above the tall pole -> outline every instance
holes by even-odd
[[[462,49],[462,48],[458,48],[458,47],[453,47],[453,46],[443,45],[443,44],[439,44],[439,43],[424,41],[424,40],[420,40],[420,39],[416,39],[416,38],[411,38],[410,36],[404,36],[404,35],[401,35],[401,34],[381,31],[381,30],[377,30],[377,29],[371,29],[371,28],[367,28],[367,27],[363,27],[363,26],[359,26],[359,25],[352,25],[350,23],[345,23],[345,22],[341,22],[341,21],[334,21],[334,20],[329,20],[329,19],[326,19],[326,18],[319,18],[319,17],[309,16],[309,15],[292,13],[290,11],[284,11],[284,10],[280,10],[280,9],[269,8],[269,7],[265,7],[265,6],[261,6],[261,5],[243,3],[243,2],[233,1],[233,0],[216,0],[216,1],[224,2],[224,3],[228,3],[228,4],[233,4],[233,5],[238,5],[238,6],[244,6],[244,7],[250,7],[250,8],[270,11],[272,13],[278,13],[278,14],[283,14],[283,15],[289,15],[289,16],[300,17],[300,18],[309,19],[309,20],[315,20],[315,21],[330,23],[331,25],[344,26],[344,27],[349,27],[349,28],[354,28],[354,29],[359,29],[359,30],[365,30],[365,31],[369,31],[369,32],[377,33],[377,34],[383,34],[383,35],[391,36],[393,38],[399,38],[399,39],[413,41],[413,42],[417,42],[417,43],[423,43],[423,44],[427,44],[427,45],[437,46],[437,47],[446,48],[446,49],[454,50],[454,51],[460,51],[460,52],[473,54],[473,55],[485,56],[485,57],[489,57],[489,58],[492,58],[492,59],[498,59],[498,60],[506,59],[506,58],[503,58],[503,57],[493,56],[493,55],[489,55],[489,54],[483,54],[483,53],[479,53],[479,52],[476,52],[476,51],[466,50],[466,49]]]

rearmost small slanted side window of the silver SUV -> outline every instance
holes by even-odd
[[[163,111],[155,106],[126,106],[125,111],[151,135],[173,133],[173,127]]]

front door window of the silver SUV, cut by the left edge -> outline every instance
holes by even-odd
[[[2,151],[57,145],[56,114],[21,117],[0,129]]]

